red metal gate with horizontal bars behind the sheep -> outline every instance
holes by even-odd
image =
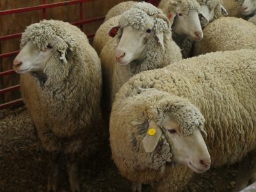
[[[60,2],[60,3],[49,3],[49,4],[46,4],[46,0],[42,0],[42,4],[38,5],[38,6],[31,6],[31,7],[26,7],[26,8],[17,8],[17,9],[13,9],[13,10],[0,11],[0,16],[1,15],[11,15],[13,13],[24,13],[24,12],[31,12],[31,11],[35,11],[35,10],[42,10],[42,13],[43,13],[42,19],[46,19],[47,18],[47,15],[46,15],[47,9],[56,8],[59,6],[69,6],[71,4],[79,4],[79,20],[77,20],[76,22],[72,22],[72,24],[82,28],[84,24],[89,24],[89,23],[96,22],[99,20],[104,20],[104,17],[96,17],[96,18],[92,18],[92,19],[88,19],[88,20],[83,20],[83,3],[88,3],[90,1],[97,1],[97,0],[74,0],[74,1],[65,1],[65,2]],[[159,3],[159,0],[148,0],[147,2],[155,4],[157,6],[157,4]],[[0,42],[4,41],[4,40],[12,40],[15,38],[20,38],[20,36],[21,36],[21,33],[0,36]],[[94,34],[88,34],[87,36],[88,36],[88,38],[93,38]],[[19,53],[19,51],[1,53],[0,59],[8,58],[8,57],[16,55],[18,53]],[[10,76],[12,74],[15,74],[14,70],[7,70],[7,71],[0,72],[0,77]],[[3,88],[0,90],[0,95],[2,95],[4,93],[8,93],[8,92],[13,92],[15,90],[19,90],[19,88],[20,88],[19,84],[15,85],[15,86],[10,86],[8,88]],[[20,103],[22,103],[22,99],[12,100],[10,102],[0,104],[0,109],[7,108],[9,106],[13,106],[15,104],[20,104]]]

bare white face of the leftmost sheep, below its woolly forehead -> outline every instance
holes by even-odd
[[[19,74],[44,70],[47,61],[53,55],[52,48],[53,46],[48,44],[44,50],[40,50],[33,42],[27,42],[13,61],[14,70]]]

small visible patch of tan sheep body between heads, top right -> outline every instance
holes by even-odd
[[[223,6],[227,10],[229,17],[242,17],[238,0],[223,0]]]

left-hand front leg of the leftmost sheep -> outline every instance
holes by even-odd
[[[57,177],[58,177],[58,159],[59,152],[51,152],[51,159],[49,163],[49,175],[47,182],[47,192],[56,192],[57,190]]]

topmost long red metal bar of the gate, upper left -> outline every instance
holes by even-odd
[[[58,7],[58,6],[67,6],[70,4],[85,3],[85,2],[90,2],[90,1],[96,1],[96,0],[74,0],[74,1],[59,2],[59,3],[41,4],[41,5],[31,6],[31,7],[26,7],[26,8],[18,8],[18,9],[13,9],[13,10],[1,11],[0,15],[10,15],[12,13],[31,12],[31,11],[35,11],[35,10],[49,9],[49,8],[54,8],[54,7]]]

